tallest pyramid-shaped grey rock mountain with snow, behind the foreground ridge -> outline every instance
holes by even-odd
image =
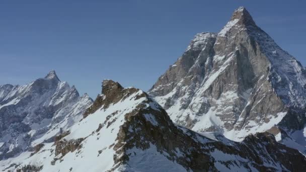
[[[242,141],[269,131],[305,151],[306,70],[240,7],[197,34],[148,92],[177,124]]]

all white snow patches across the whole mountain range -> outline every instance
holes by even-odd
[[[241,12],[244,8],[239,8],[235,12]],[[218,33],[218,37],[226,37],[227,33],[237,25],[239,19],[234,19],[228,22],[224,28]],[[281,50],[274,41],[267,36],[265,33],[256,32],[253,33],[256,35],[255,39],[258,39],[260,48],[264,52],[263,55],[268,57],[270,62],[270,73],[267,75],[261,75],[259,80],[266,78],[270,80],[273,84],[273,89],[277,93],[282,101],[287,107],[305,107],[306,105],[306,92],[303,89],[306,85],[306,76],[303,74],[304,68],[290,56],[287,52]],[[209,38],[215,37],[213,33],[200,33],[195,36],[191,44],[188,46],[187,50],[191,48],[202,48],[205,49],[207,41]],[[262,41],[264,40],[264,42]],[[215,42],[215,44],[219,44]],[[194,125],[192,129],[195,131],[204,131],[205,129],[215,127],[218,132],[205,133],[201,132],[195,134],[195,139],[198,142],[204,143],[207,142],[207,138],[210,138],[215,141],[222,141],[226,144],[231,144],[231,141],[226,141],[226,139],[221,136],[218,137],[216,134],[223,134],[226,138],[235,141],[242,141],[244,137],[249,134],[254,134],[257,132],[264,132],[271,127],[280,123],[280,121],[287,114],[286,112],[278,112],[276,114],[258,114],[256,119],[252,119],[246,122],[241,130],[227,130],[224,128],[226,123],[231,123],[232,121],[241,122],[244,120],[243,117],[239,115],[243,114],[244,110],[250,105],[251,101],[251,92],[252,89],[244,90],[242,93],[238,90],[235,90],[237,85],[228,84],[231,89],[224,90],[224,92],[218,95],[218,98],[209,98],[205,95],[207,89],[211,88],[214,81],[224,72],[228,66],[235,59],[235,51],[222,54],[219,53],[207,59],[205,65],[209,60],[213,60],[213,65],[216,66],[209,71],[207,75],[203,78],[199,78],[200,83],[198,85],[184,85],[183,81],[179,81],[177,87],[174,88],[166,96],[155,97],[154,99],[159,102],[162,106],[166,105],[168,99],[172,99],[173,105],[167,109],[167,112],[170,115],[170,118],[175,122],[186,122],[187,120],[193,120]],[[182,57],[180,57],[181,59]],[[216,65],[217,64],[217,65]],[[199,58],[196,59],[195,65],[192,67],[197,67],[200,65]],[[176,63],[171,67],[179,67]],[[191,68],[193,69],[193,68]],[[206,71],[205,71],[206,72]],[[164,77],[163,75],[162,77]],[[45,77],[48,79],[57,78],[55,71],[51,71]],[[195,76],[197,77],[197,76]],[[49,84],[49,83],[48,83]],[[167,83],[167,85],[171,85]],[[165,85],[164,85],[165,86]],[[263,84],[258,88],[256,93]],[[0,97],[5,97],[4,101],[9,101],[4,105],[0,105],[0,109],[5,106],[17,105],[22,96],[27,96],[25,94],[30,94],[30,91],[33,91],[33,82],[28,85],[19,86],[16,85],[8,95],[5,95],[4,92],[0,93]],[[161,89],[160,85],[156,89]],[[199,89],[200,88],[200,89]],[[234,89],[233,89],[234,88]],[[198,89],[198,90],[197,90]],[[191,92],[195,91],[194,93]],[[28,134],[33,137],[34,141],[31,142],[32,146],[35,146],[44,140],[50,139],[60,132],[60,130],[70,131],[70,134],[65,137],[65,139],[78,139],[85,138],[82,142],[82,149],[76,150],[74,152],[68,152],[63,158],[63,161],[56,161],[55,165],[51,165],[49,162],[55,158],[54,153],[49,150],[54,150],[55,146],[53,143],[45,143],[44,148],[36,153],[33,156],[29,156],[31,152],[23,152],[16,157],[9,158],[0,162],[0,168],[5,168],[7,164],[17,163],[22,165],[35,164],[43,165],[44,168],[42,171],[69,171],[70,167],[73,166],[73,171],[106,171],[110,170],[114,165],[114,155],[121,156],[116,154],[113,149],[113,145],[118,142],[117,136],[122,126],[125,122],[125,114],[132,112],[138,105],[145,105],[146,108],[151,108],[156,111],[162,111],[159,104],[156,102],[147,103],[147,98],[135,99],[137,96],[142,94],[142,91],[132,94],[129,98],[119,101],[116,104],[111,104],[107,109],[104,107],[97,110],[95,113],[91,114],[87,118],[83,119],[82,112],[89,107],[91,102],[89,97],[73,99],[77,92],[74,87],[70,89],[69,85],[66,82],[58,82],[55,88],[52,88],[49,92],[44,93],[43,95],[35,95],[35,102],[31,103],[26,110],[29,110],[29,115],[23,121],[26,124],[29,124],[31,130]],[[154,91],[154,90],[153,90]],[[178,93],[182,94],[182,97],[176,98]],[[5,95],[5,96],[4,96]],[[193,95],[190,98],[190,95]],[[103,100],[106,99],[105,95],[100,95]],[[261,95],[261,99],[257,102],[254,102],[252,105],[252,110],[261,103],[266,95]],[[187,108],[183,108],[182,102],[190,101]],[[245,101],[245,107],[242,107],[243,111],[241,113],[234,114],[234,112],[240,112],[237,110],[236,103],[238,101]],[[203,110],[203,105],[206,103],[209,105],[208,111],[200,112]],[[43,118],[39,122],[32,122],[31,120],[36,118],[37,108],[32,107],[47,107],[47,106],[60,106],[60,109],[56,110],[56,113],[52,118]],[[26,111],[25,111],[26,112]],[[20,112],[21,114],[22,112]],[[115,113],[115,114],[114,114]],[[111,115],[113,114],[113,115]],[[232,116],[234,114],[234,116]],[[39,115],[39,114],[38,114]],[[236,115],[236,116],[235,116]],[[156,117],[153,114],[143,114],[147,122],[153,126],[159,126]],[[268,119],[268,122],[263,120],[261,116],[265,116]],[[39,116],[41,117],[41,116]],[[228,117],[223,120],[221,117]],[[238,119],[236,119],[238,117]],[[82,120],[81,120],[82,119]],[[109,126],[104,125],[99,132],[95,132],[98,126],[104,121],[112,121]],[[178,127],[185,134],[188,135],[188,130],[183,127]],[[46,130],[46,132],[43,132]],[[132,131],[132,130],[130,130]],[[276,140],[282,142],[283,144],[297,148],[301,152],[305,152],[306,146],[306,129],[294,131],[290,133],[290,137],[282,138],[281,133],[277,134]],[[25,133],[22,133],[25,134]],[[23,137],[19,135],[16,140],[17,143],[9,144],[9,151],[12,151],[18,145],[25,146],[27,145],[22,141]],[[205,136],[205,137],[203,137]],[[3,137],[0,142],[0,147],[5,146],[11,136],[6,135]],[[207,138],[206,138],[207,137]],[[4,141],[5,140],[5,141]],[[225,144],[224,143],[224,144]],[[98,152],[101,153],[98,154]],[[184,153],[180,151],[179,148],[175,148],[177,156],[183,157]],[[280,150],[285,152],[285,150]],[[2,153],[2,152],[1,152]],[[129,161],[126,165],[121,165],[118,170],[130,170],[130,171],[186,171],[184,167],[178,164],[175,160],[169,160],[166,152],[158,151],[157,147],[150,143],[148,149],[138,149],[133,147],[127,150],[127,153],[131,153],[129,156]],[[211,152],[211,155],[215,158],[215,166],[220,171],[244,171],[243,163],[249,163],[247,159],[244,159],[238,155],[223,153],[220,150],[215,149]],[[59,157],[59,156],[57,156]],[[84,163],[90,161],[91,163]],[[239,163],[230,163],[226,166],[223,161],[233,161]],[[264,162],[266,163],[266,162]],[[95,165],[92,165],[95,164]],[[158,166],[156,165],[158,164]],[[252,171],[256,171],[255,168],[252,168]]]

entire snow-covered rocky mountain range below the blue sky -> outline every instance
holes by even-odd
[[[147,92],[0,85],[2,171],[303,171],[306,70],[240,7]]]

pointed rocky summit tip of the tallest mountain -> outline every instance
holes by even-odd
[[[238,19],[240,24],[256,25],[252,16],[245,7],[239,7],[232,15],[231,21]]]

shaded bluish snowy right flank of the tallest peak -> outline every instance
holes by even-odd
[[[277,95],[287,106],[304,108],[306,106],[306,91],[304,88],[306,75],[303,73],[301,64],[293,56],[282,50],[266,33],[253,31],[251,35],[254,35],[261,50],[268,57],[270,62],[269,79],[271,79]]]

